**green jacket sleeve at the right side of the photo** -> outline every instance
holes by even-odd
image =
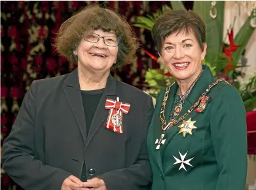
[[[216,190],[241,190],[245,187],[247,174],[246,110],[233,86],[223,90],[224,95],[216,97],[213,103],[210,119],[211,139],[219,168]]]

